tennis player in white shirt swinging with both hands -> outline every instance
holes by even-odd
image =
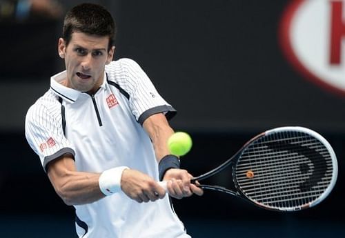
[[[169,155],[175,110],[131,59],[112,61],[115,22],[83,3],[66,14],[59,55],[66,70],[26,115],[26,138],[57,194],[76,209],[79,237],[190,237],[157,181],[181,199],[190,184]]]

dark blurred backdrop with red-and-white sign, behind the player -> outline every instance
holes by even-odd
[[[77,237],[74,209],[55,194],[26,143],[23,126],[28,107],[48,90],[50,76],[63,70],[57,55],[63,14],[81,2],[0,0],[0,237]],[[190,235],[344,236],[345,74],[339,72],[345,69],[345,34],[339,34],[340,43],[335,41],[336,21],[331,21],[335,8],[345,19],[344,1],[88,2],[106,6],[117,21],[115,59],[135,59],[177,109],[171,124],[193,137],[193,149],[181,161],[193,175],[214,168],[248,139],[277,126],[316,130],[335,150],[337,184],[319,206],[286,214],[206,191],[203,197],[174,201]],[[344,23],[338,25],[342,32]],[[289,30],[299,26],[306,29],[304,45]],[[340,57],[328,61],[328,47],[337,42]],[[309,58],[322,62],[319,68],[331,77],[319,73],[308,52],[298,50],[311,46]],[[214,179],[219,181],[231,184],[226,174]]]

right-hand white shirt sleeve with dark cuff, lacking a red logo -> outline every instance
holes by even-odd
[[[176,114],[176,110],[159,95],[152,81],[135,61],[121,59],[120,64],[129,90],[130,109],[139,123],[144,123],[150,115],[159,112],[163,112],[168,119]]]

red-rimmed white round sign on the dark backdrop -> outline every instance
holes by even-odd
[[[345,95],[345,0],[291,1],[279,37],[299,72]]]

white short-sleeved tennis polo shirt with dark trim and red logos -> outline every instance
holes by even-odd
[[[51,78],[50,89],[28,110],[26,139],[43,168],[71,153],[76,168],[103,172],[117,166],[144,172],[158,181],[158,165],[150,137],[141,124],[158,112],[175,110],[131,59],[106,66],[95,95],[62,86],[66,71]],[[139,204],[117,192],[76,208],[79,237],[182,238],[190,237],[170,206],[168,196]]]

